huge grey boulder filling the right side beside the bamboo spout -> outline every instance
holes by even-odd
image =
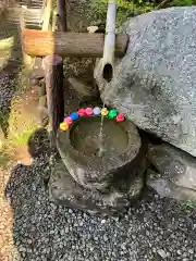
[[[196,8],[171,8],[127,21],[130,37],[111,83],[95,76],[107,104],[138,127],[196,156]],[[97,65],[97,67],[99,67]]]

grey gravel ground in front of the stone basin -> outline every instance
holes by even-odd
[[[44,162],[16,165],[5,188],[20,253],[12,260],[196,260],[194,213],[152,191],[121,217],[57,207],[48,198],[50,166]]]

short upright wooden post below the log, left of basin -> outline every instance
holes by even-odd
[[[59,55],[42,59],[46,78],[47,105],[49,114],[49,133],[51,146],[56,146],[56,136],[60,122],[64,116],[63,97],[63,60]]]

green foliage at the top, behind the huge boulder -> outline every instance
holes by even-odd
[[[90,0],[91,8],[101,21],[106,21],[108,0]],[[117,0],[117,26],[122,25],[127,17],[169,7],[188,7],[196,0]]]

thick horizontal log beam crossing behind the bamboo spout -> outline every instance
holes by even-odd
[[[101,58],[103,34],[23,30],[24,51],[32,57],[93,57]],[[115,57],[123,57],[126,51],[127,36],[117,35]]]

